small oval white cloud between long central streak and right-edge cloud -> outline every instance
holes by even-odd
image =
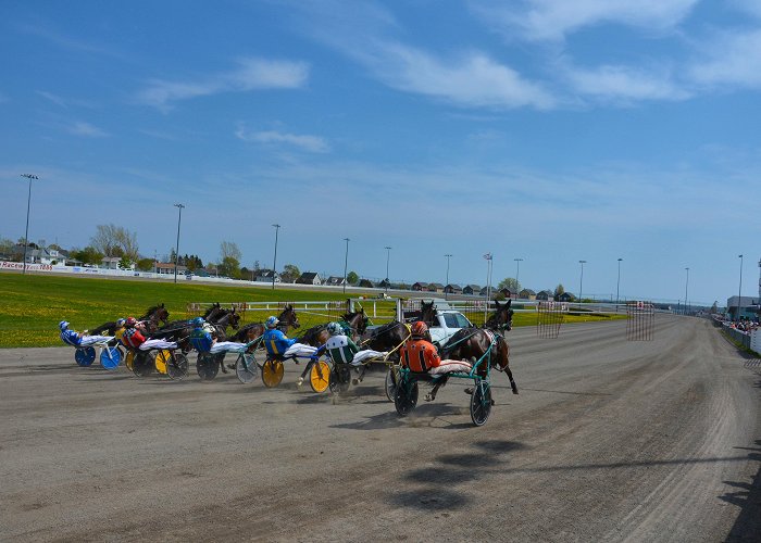
[[[686,100],[689,92],[673,81],[664,70],[647,71],[629,66],[599,66],[594,70],[573,67],[566,78],[572,88],[586,97],[613,102],[639,100]]]

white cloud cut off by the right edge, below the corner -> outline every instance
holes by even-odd
[[[761,30],[714,36],[704,59],[689,68],[690,78],[711,87],[761,88]]]

